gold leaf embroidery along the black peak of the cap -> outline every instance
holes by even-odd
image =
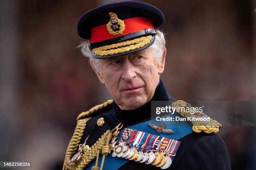
[[[119,42],[112,45],[105,45],[102,47],[97,47],[92,50],[95,55],[113,55],[117,53],[127,52],[130,50],[138,49],[139,47],[144,47],[147,45],[153,37],[148,35],[146,37],[135,38],[134,40],[127,40],[124,42]]]

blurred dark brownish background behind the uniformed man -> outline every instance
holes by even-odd
[[[110,99],[76,48],[79,17],[113,0],[1,0],[0,160],[61,169],[76,117]],[[256,99],[254,0],[145,0],[165,15],[161,78],[180,100]],[[255,114],[255,113],[253,113]],[[233,170],[256,169],[255,126],[224,126]],[[218,155],[216,155],[218,156]]]

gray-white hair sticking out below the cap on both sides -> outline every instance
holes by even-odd
[[[89,61],[92,61],[92,66],[98,72],[101,72],[101,67],[99,62],[99,60],[101,59],[92,57],[91,50],[89,49],[89,44],[90,44],[90,40],[85,40],[84,42],[81,42],[78,48],[81,50],[84,57],[87,57]],[[151,46],[149,46],[153,50],[156,62],[161,62],[165,45],[166,45],[166,39],[164,36],[164,32],[157,30],[157,34],[155,35],[155,42]]]

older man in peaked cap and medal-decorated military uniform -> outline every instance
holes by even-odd
[[[230,169],[225,143],[207,134],[218,132],[217,121],[192,126],[150,121],[151,101],[191,108],[170,97],[160,79],[166,47],[155,28],[163,22],[158,8],[131,1],[97,7],[80,18],[78,34],[86,41],[79,47],[113,100],[77,117],[63,169]]]

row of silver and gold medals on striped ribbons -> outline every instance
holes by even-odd
[[[179,145],[177,140],[125,128],[112,156],[166,169],[171,166]]]

